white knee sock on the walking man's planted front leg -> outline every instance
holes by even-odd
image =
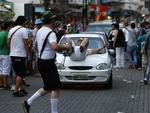
[[[50,101],[51,101],[51,113],[58,113],[58,98],[52,98]]]

